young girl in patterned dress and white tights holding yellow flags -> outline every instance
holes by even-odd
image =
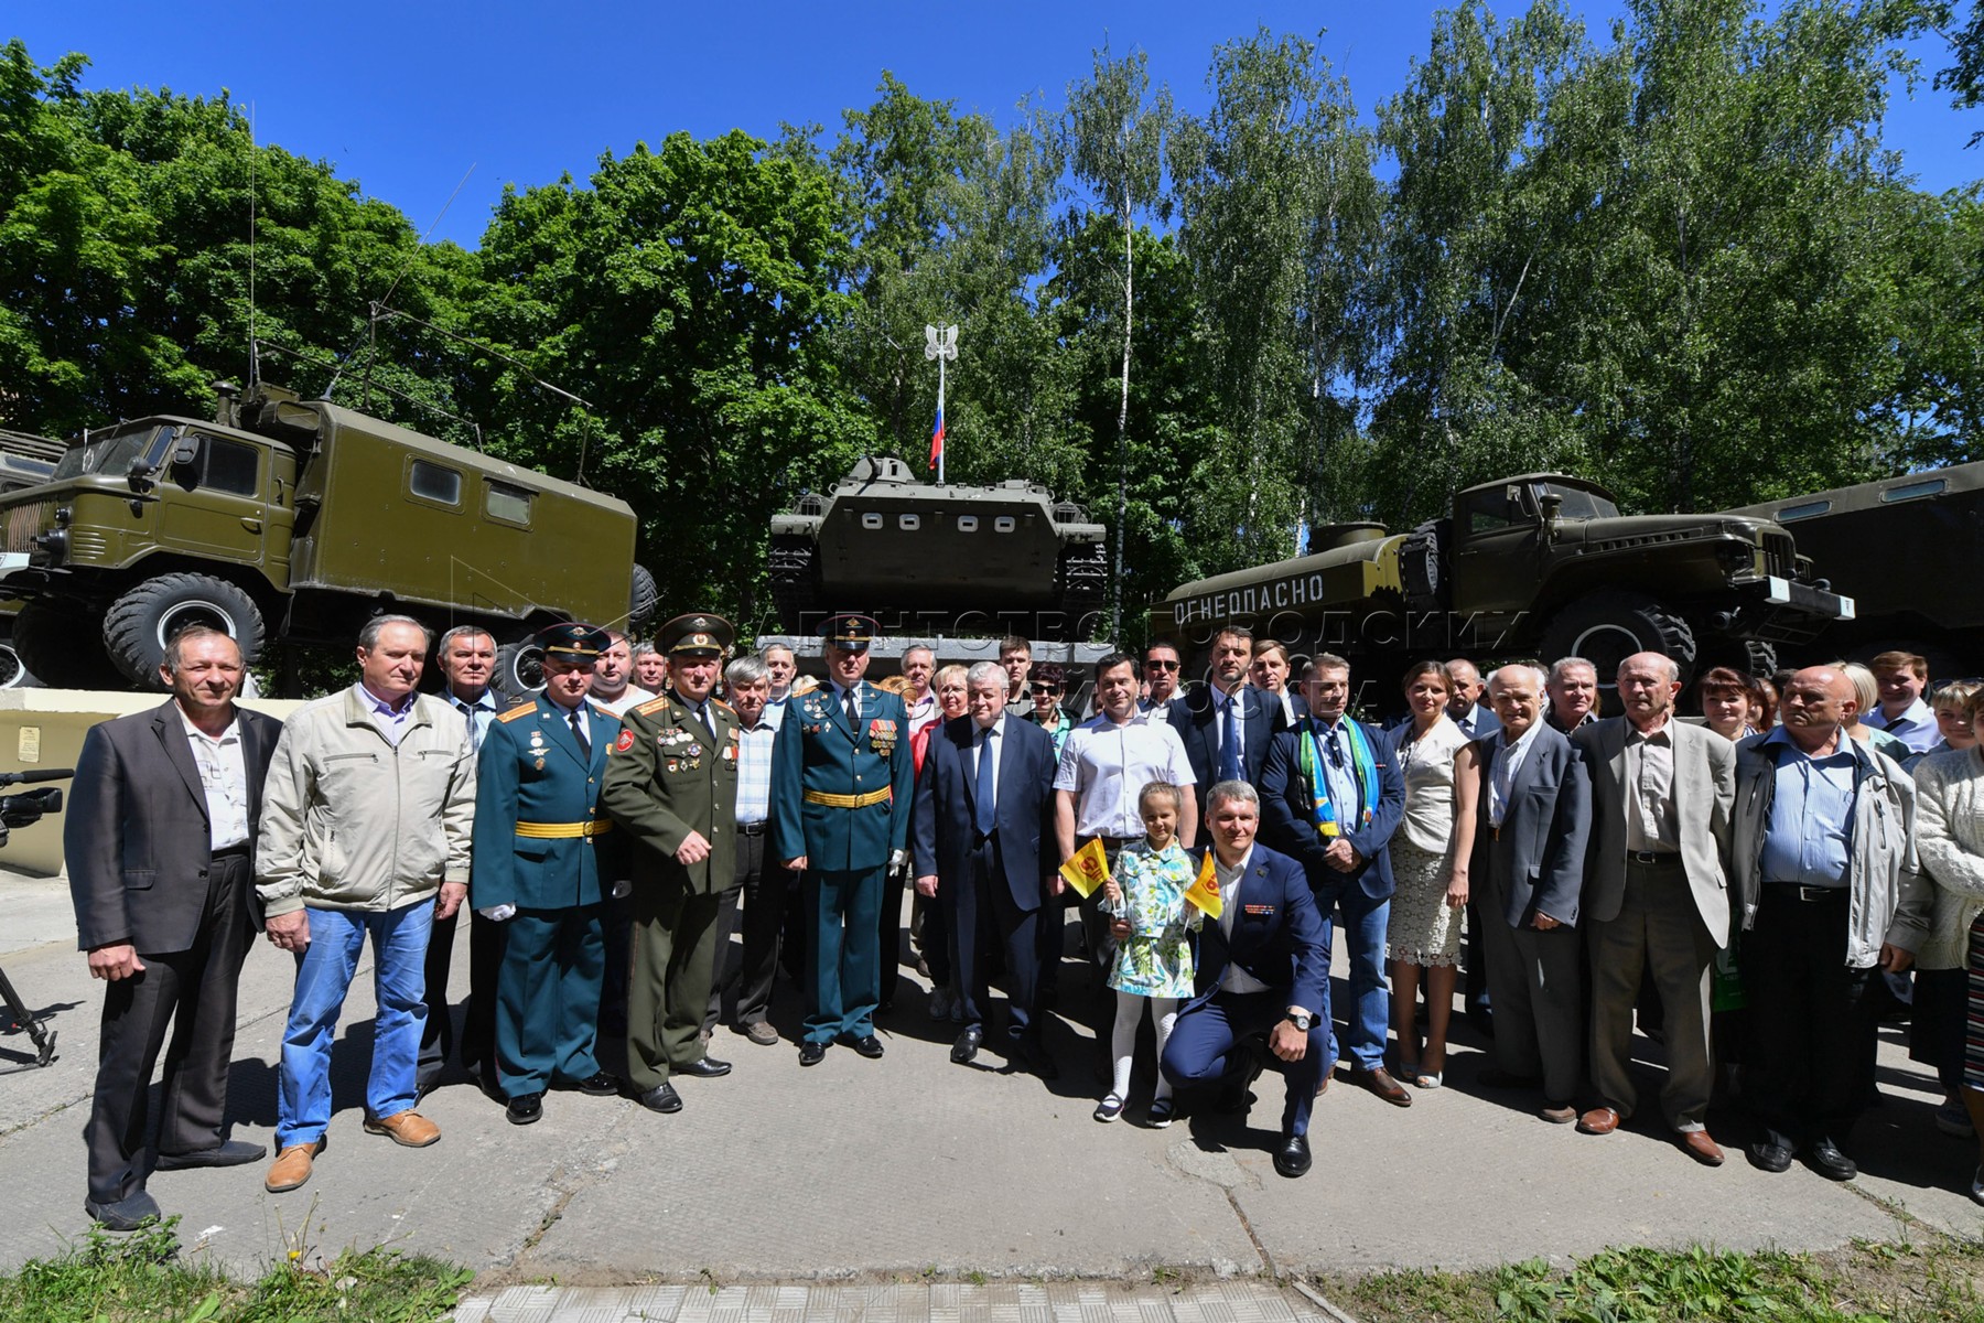
[[[1178,1000],[1192,996],[1192,948],[1184,934],[1196,930],[1204,914],[1184,902],[1198,869],[1178,845],[1178,787],[1169,782],[1151,782],[1143,787],[1137,795],[1137,815],[1143,817],[1147,839],[1123,847],[1115,877],[1103,885],[1105,908],[1115,914],[1111,930],[1117,938],[1117,962],[1109,972],[1109,986],[1117,994],[1117,1023],[1111,1043],[1115,1087],[1095,1107],[1097,1121],[1115,1121],[1123,1115],[1143,1008],[1151,1006],[1157,1055],[1163,1061],[1165,1039],[1178,1020]],[[1151,1125],[1159,1129],[1171,1125],[1171,1081],[1163,1071],[1157,1075],[1157,1097],[1151,1101]]]

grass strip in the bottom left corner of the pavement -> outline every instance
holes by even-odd
[[[474,1277],[464,1267],[397,1250],[345,1250],[306,1265],[302,1248],[258,1281],[234,1281],[179,1254],[179,1218],[129,1236],[91,1230],[58,1260],[0,1275],[6,1323],[429,1323],[454,1309]]]

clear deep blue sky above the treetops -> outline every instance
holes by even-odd
[[[629,4],[625,0],[343,0],[337,6],[186,0],[30,0],[10,36],[40,63],[69,50],[91,87],[230,89],[258,137],[331,161],[436,238],[474,246],[506,182],[585,179],[603,151],[673,131],[774,135],[869,105],[883,69],[925,97],[1010,123],[1030,97],[1063,101],[1107,42],[1143,48],[1184,109],[1206,103],[1212,48],[1258,24],[1313,36],[1367,115],[1423,58],[1440,6],[1222,4]],[[1516,4],[1494,6],[1514,14]],[[1621,6],[1575,6],[1595,30]],[[1946,63],[1938,42],[1926,71]],[[1956,113],[1924,85],[1889,111],[1887,141],[1924,188],[1984,175],[1964,151],[1984,113]],[[472,173],[470,167],[474,167]],[[448,196],[468,173],[460,196]],[[442,208],[446,214],[442,216]]]

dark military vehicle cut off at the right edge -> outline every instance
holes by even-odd
[[[1794,532],[1817,573],[1857,603],[1794,661],[1905,649],[1930,676],[1984,674],[1984,462],[1744,506]]]

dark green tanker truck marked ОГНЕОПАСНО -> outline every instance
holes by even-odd
[[[1411,534],[1317,528],[1298,559],[1173,591],[1153,635],[1190,653],[1246,623],[1296,653],[1399,664],[1417,657],[1585,657],[1659,651],[1682,672],[1776,664],[1774,645],[1845,619],[1780,526],[1734,514],[1621,516],[1605,488],[1563,474],[1484,482]],[[1379,700],[1387,696],[1377,694]]]

